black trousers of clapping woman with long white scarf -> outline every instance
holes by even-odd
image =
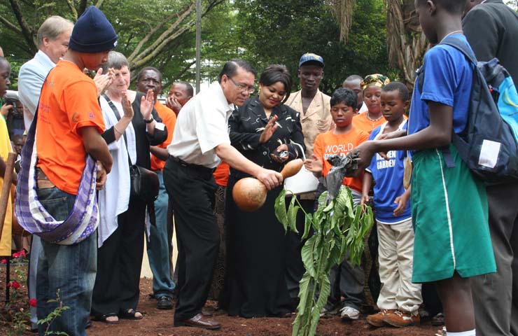
[[[97,250],[92,315],[137,309],[145,218],[146,204],[131,197],[127,211],[118,216],[117,230]]]

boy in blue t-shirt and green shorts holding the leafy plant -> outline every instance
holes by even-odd
[[[475,336],[470,276],[496,271],[488,228],[484,183],[475,179],[451,145],[451,132],[465,128],[472,86],[472,64],[456,48],[440,44],[462,34],[465,0],[416,0],[423,32],[435,47],[424,57],[422,92],[416,85],[408,134],[367,141],[356,148],[358,171],[377,152],[414,150],[412,281],[433,282],[444,309],[447,335]],[[455,167],[444,163],[451,152]]]

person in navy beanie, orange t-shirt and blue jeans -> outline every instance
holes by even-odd
[[[34,120],[38,153],[36,195],[54,221],[69,222],[78,203],[85,202],[79,186],[83,186],[87,154],[96,160],[98,189],[110,172],[112,158],[101,137],[104,122],[97,88],[83,69],[99,69],[116,45],[117,34],[101,10],[94,6],[87,8],[73,27],[69,50],[43,83]],[[76,235],[75,241],[63,237],[57,242],[40,235],[42,252],[36,280],[38,319],[46,318],[59,305],[48,302],[56,298],[58,290],[59,300],[70,308],[50,323],[49,331],[86,335],[97,269],[97,241],[93,233],[98,214],[97,208],[91,211],[91,203],[85,202],[85,216],[91,216],[94,225],[85,230],[80,223],[77,228],[72,223],[75,229],[70,236]],[[44,335],[46,329],[46,324],[38,325],[39,335]]]

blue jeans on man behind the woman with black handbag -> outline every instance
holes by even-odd
[[[149,229],[150,237],[148,240],[148,260],[151,272],[153,272],[153,294],[156,297],[165,295],[173,297],[175,284],[171,278],[171,268],[169,267],[169,242],[167,241],[167,228],[173,223],[167,223],[167,206],[169,196],[164,186],[162,172],[156,172],[160,189],[158,198],[155,200],[155,222]]]

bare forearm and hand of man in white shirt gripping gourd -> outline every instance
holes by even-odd
[[[252,176],[255,176],[259,181],[264,183],[268,190],[272,190],[276,186],[282,183],[282,175],[273,170],[264,169],[259,165],[246,159],[236,148],[230,144],[221,144],[216,146],[216,155],[221,160],[225,161],[234,169],[239,169],[241,172],[245,172]]]

